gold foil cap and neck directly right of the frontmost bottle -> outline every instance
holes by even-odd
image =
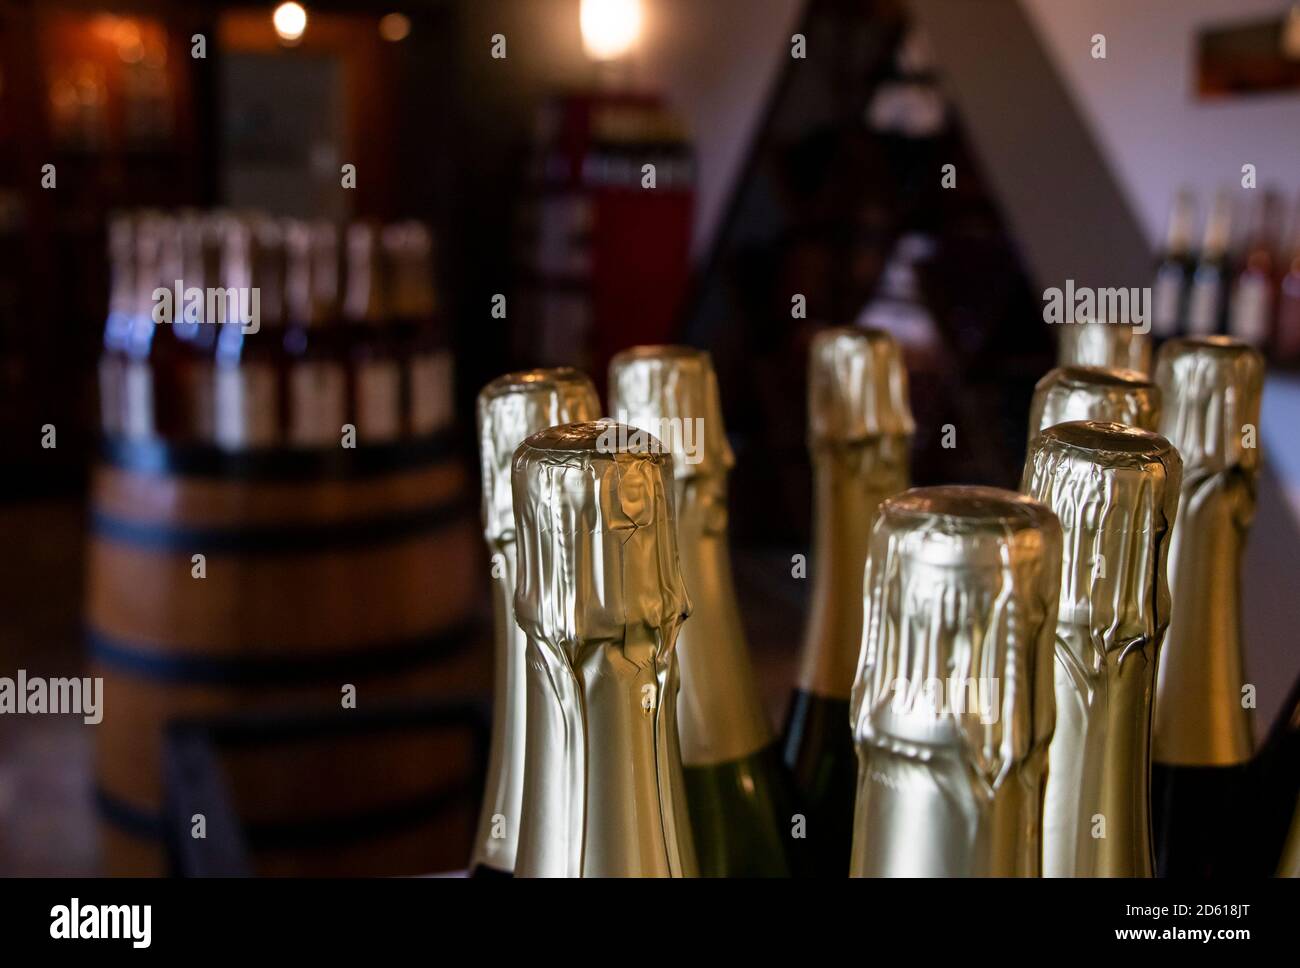
[[[1183,463],[1164,437],[1082,421],[1043,431],[1022,490],[1061,521],[1045,877],[1150,877],[1150,717]]]

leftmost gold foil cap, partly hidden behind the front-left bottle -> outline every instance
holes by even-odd
[[[576,369],[521,370],[491,381],[478,394],[484,534],[489,543],[515,539],[511,470],[515,450],[538,430],[595,420],[595,386]]]

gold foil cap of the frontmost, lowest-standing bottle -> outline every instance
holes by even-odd
[[[996,790],[1052,734],[1061,525],[996,487],[916,487],[880,505],[853,720],[859,742],[949,747]],[[897,703],[896,682],[988,680],[998,708]],[[992,682],[997,681],[996,689]],[[991,720],[982,722],[983,720]]]

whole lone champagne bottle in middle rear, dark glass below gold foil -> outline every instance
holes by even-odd
[[[862,577],[880,502],[907,487],[913,430],[907,373],[889,334],[841,327],[814,338],[811,613],[784,739],[806,821],[797,845],[803,873],[845,873],[857,785],[849,694],[862,644]]]

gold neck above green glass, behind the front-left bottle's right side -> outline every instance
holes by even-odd
[[[754,681],[727,547],[727,478],[680,478],[677,555],[692,613],[677,637],[677,719],[686,767],[728,763],[767,746],[771,729]]]

